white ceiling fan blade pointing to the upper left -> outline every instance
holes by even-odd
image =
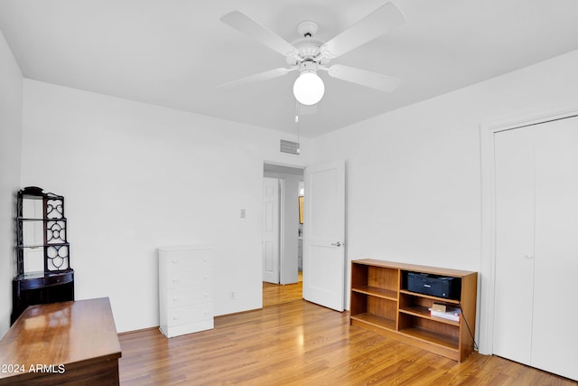
[[[273,51],[279,52],[284,56],[291,55],[297,51],[293,44],[287,42],[264,25],[258,24],[255,20],[247,16],[247,14],[243,14],[240,11],[229,12],[223,15],[220,21],[235,28],[238,32],[245,33],[253,39],[256,39],[257,42],[265,44]]]

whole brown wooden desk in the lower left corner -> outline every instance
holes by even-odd
[[[120,357],[107,297],[30,306],[0,341],[0,385],[117,385]]]

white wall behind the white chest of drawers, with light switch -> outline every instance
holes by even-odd
[[[295,139],[24,80],[22,184],[64,195],[76,298],[110,297],[118,331],[159,324],[160,246],[215,249],[217,315],[262,306],[263,164],[309,148],[280,138]]]

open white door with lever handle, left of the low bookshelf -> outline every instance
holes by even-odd
[[[305,169],[303,297],[343,311],[345,302],[345,165]]]

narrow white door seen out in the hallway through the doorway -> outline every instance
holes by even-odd
[[[263,281],[279,283],[279,180],[263,179]]]

